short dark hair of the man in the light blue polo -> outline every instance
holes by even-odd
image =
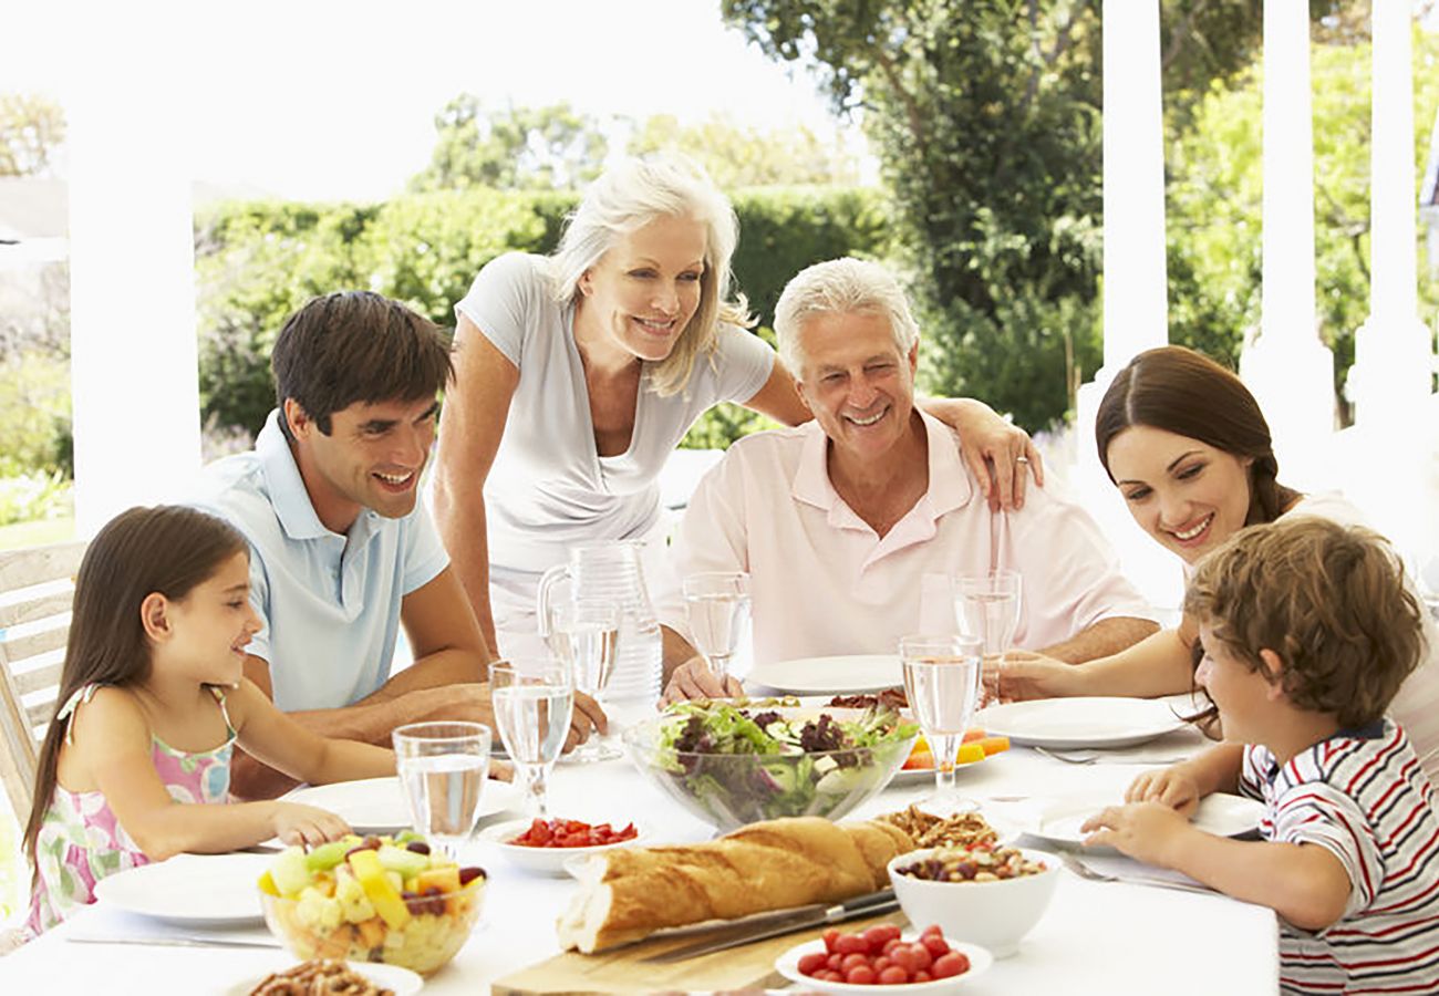
[[[433,397],[450,379],[450,340],[399,301],[340,291],[312,298],[285,321],[271,370],[285,438],[294,440],[286,397],[330,435],[330,416],[357,402]]]

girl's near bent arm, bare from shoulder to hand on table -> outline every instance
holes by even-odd
[[[334,813],[294,803],[177,805],[151,760],[150,724],[122,689],[99,689],[71,723],[79,766],[151,861],[181,852],[223,854],[271,836],[321,843],[350,829]]]

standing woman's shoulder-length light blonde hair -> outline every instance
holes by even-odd
[[[650,389],[665,396],[685,390],[701,354],[714,361],[718,322],[753,324],[743,295],[734,302],[727,299],[732,279],[730,258],[740,239],[740,222],[730,199],[708,174],[675,154],[626,158],[609,167],[566,219],[564,235],[550,256],[550,276],[558,302],[574,302],[586,271],[620,239],[661,217],[694,219],[705,229],[699,307],[669,356],[648,364]]]

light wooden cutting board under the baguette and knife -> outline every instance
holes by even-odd
[[[909,921],[898,910],[882,917],[852,920],[840,924],[840,930],[853,933],[875,924],[901,924]],[[633,993],[653,989],[761,989],[787,986],[789,982],[774,970],[774,959],[796,944],[816,940],[825,934],[825,927],[799,930],[783,937],[731,947],[698,959],[671,961],[669,964],[645,964],[640,959],[668,951],[672,947],[689,944],[702,934],[686,931],[666,934],[612,951],[580,954],[566,951],[548,961],[505,976],[494,983],[495,996],[561,996],[567,993]]]

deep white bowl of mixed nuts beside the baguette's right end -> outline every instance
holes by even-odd
[[[1059,859],[1043,851],[976,843],[911,851],[889,862],[899,908],[912,923],[1002,959],[1019,949],[1049,908]]]

